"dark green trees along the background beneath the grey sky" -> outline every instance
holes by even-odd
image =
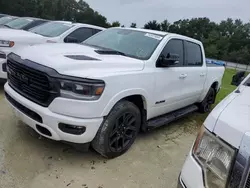
[[[16,16],[32,16],[50,20],[68,20],[102,27],[119,27],[119,21],[93,10],[83,0],[0,0],[0,12]],[[137,27],[131,23],[130,27]],[[250,22],[228,18],[215,23],[209,18],[182,19],[174,23],[149,21],[146,29],[186,35],[203,42],[206,56],[242,64],[250,63]]]

